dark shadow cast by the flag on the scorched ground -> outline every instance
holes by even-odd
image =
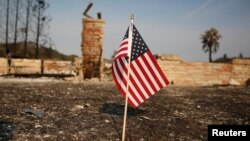
[[[110,115],[123,116],[124,115],[124,105],[117,104],[117,103],[104,103],[100,107],[100,112],[107,113]],[[142,114],[143,112],[145,112],[145,111],[138,109],[138,108],[133,109],[130,106],[128,106],[128,111],[127,111],[128,116],[136,116],[136,115]]]

